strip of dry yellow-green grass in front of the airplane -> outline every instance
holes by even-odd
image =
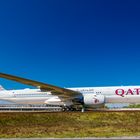
[[[140,112],[0,113],[0,137],[140,136]]]

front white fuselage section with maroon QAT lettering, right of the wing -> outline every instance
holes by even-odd
[[[104,95],[105,103],[140,103],[140,86],[70,88],[86,96]]]

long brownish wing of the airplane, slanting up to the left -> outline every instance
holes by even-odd
[[[54,85],[50,85],[50,84],[46,84],[46,83],[42,83],[42,82],[30,80],[30,79],[25,79],[25,78],[10,75],[10,74],[0,73],[0,77],[8,79],[8,80],[16,81],[22,84],[38,87],[42,91],[50,91],[53,95],[56,95],[63,99],[72,99],[76,96],[81,95],[81,93],[76,92],[76,91],[72,91],[69,89],[57,87]]]

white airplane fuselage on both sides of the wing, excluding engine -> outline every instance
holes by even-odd
[[[103,95],[104,103],[140,103],[140,86],[68,88],[80,92],[83,97]],[[15,104],[62,105],[58,96],[40,89],[2,90],[0,100]]]

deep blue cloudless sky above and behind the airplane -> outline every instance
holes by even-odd
[[[1,0],[0,71],[61,87],[140,85],[140,1]]]

